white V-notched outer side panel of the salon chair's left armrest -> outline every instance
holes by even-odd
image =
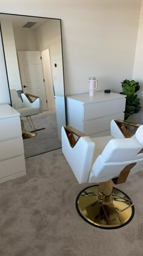
[[[94,150],[95,143],[88,136],[79,138],[74,148],[71,148],[62,127],[62,152],[79,183],[88,181]]]

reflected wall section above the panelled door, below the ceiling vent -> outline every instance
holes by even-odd
[[[35,29],[13,29],[16,51],[38,51]]]

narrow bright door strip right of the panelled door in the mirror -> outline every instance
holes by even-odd
[[[55,108],[55,97],[53,88],[53,77],[50,62],[50,52],[49,49],[41,51],[42,56],[42,66],[45,79],[45,91],[47,94],[48,109]]]

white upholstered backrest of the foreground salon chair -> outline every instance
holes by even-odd
[[[118,177],[122,169],[136,163],[131,172],[143,169],[143,125],[132,138],[110,140],[104,151],[95,160],[89,182],[105,182]]]

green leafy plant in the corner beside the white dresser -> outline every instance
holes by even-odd
[[[127,95],[126,105],[125,105],[125,116],[124,120],[127,120],[129,116],[138,113],[141,110],[141,103],[136,91],[139,90],[139,82],[135,80],[125,79],[121,82],[122,84],[122,94]]]

